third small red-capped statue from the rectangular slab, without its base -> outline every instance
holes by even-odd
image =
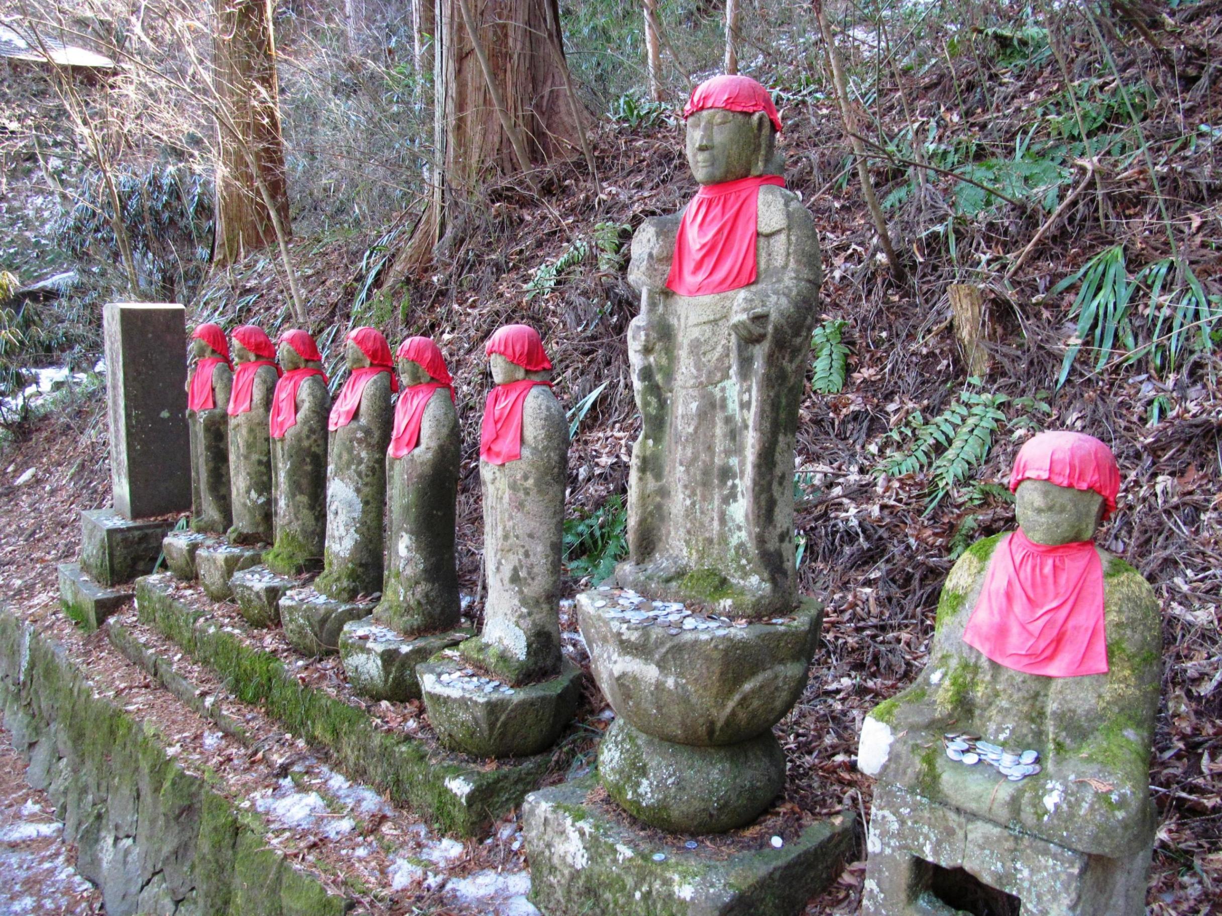
[[[268,423],[275,543],[263,559],[275,572],[295,575],[323,565],[331,398],[323,355],[306,331],[285,331],[276,353],[285,374]]]

